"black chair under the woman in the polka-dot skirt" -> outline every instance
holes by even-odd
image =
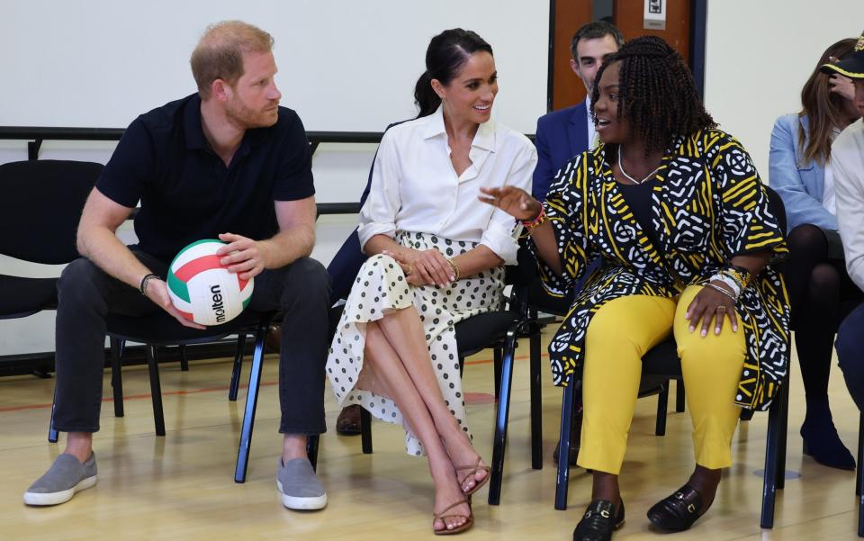
[[[504,473],[504,452],[507,446],[510,392],[513,379],[513,362],[518,347],[517,338],[531,338],[536,344],[536,355],[530,361],[531,393],[531,464],[536,470],[543,467],[542,401],[540,395],[540,326],[530,317],[527,304],[528,286],[534,279],[535,266],[527,249],[520,248],[518,266],[507,268],[507,284],[513,285],[508,307],[503,311],[479,314],[456,325],[456,343],[459,364],[483,349],[494,350],[495,397],[498,409],[495,416],[495,436],[492,445],[489,503],[500,503],[501,481]],[[340,309],[331,312],[337,319]],[[360,414],[360,434],[363,452],[372,453],[372,416],[365,409]]]

